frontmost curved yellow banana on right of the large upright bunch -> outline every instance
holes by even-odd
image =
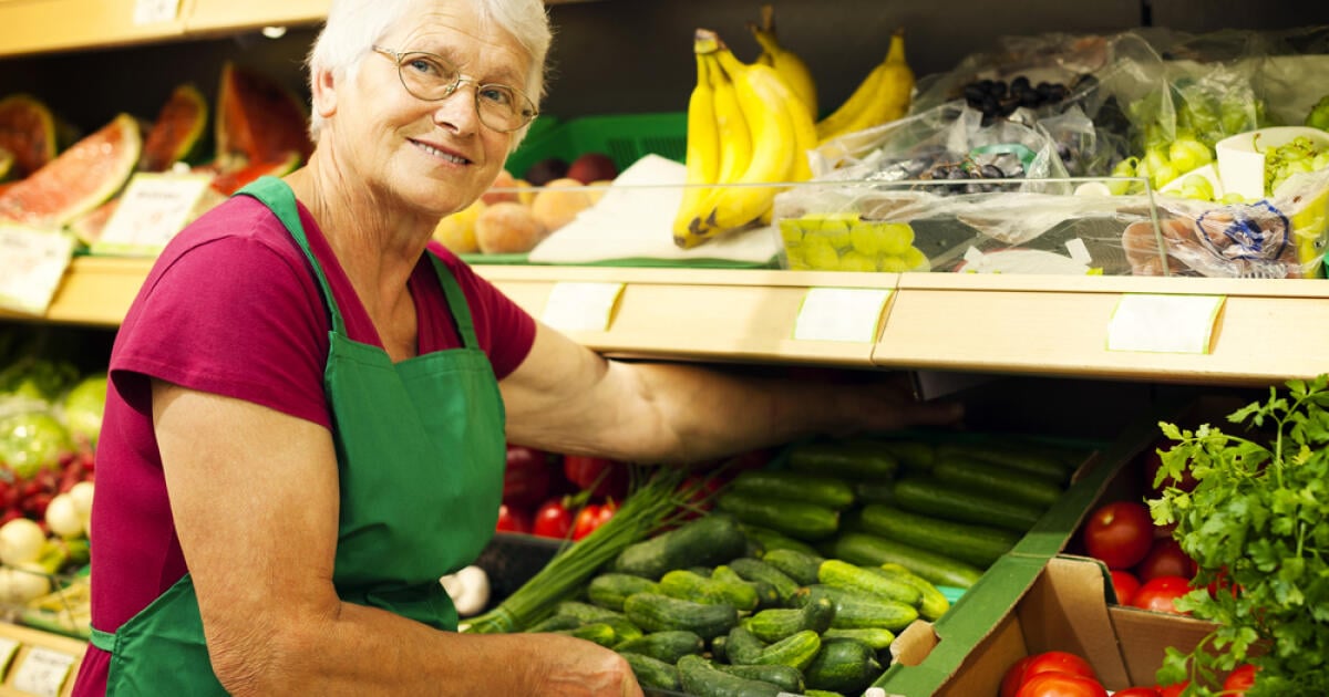
[[[716,191],[706,218],[690,224],[683,242],[699,244],[720,232],[744,227],[762,218],[777,193],[776,187],[752,186],[789,181],[796,170],[797,134],[793,113],[800,102],[769,65],[744,64],[718,42],[716,57],[734,81],[743,118],[752,133],[752,161],[743,175]]]

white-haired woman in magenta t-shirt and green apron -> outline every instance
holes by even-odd
[[[671,462],[954,420],[606,361],[431,243],[549,41],[540,0],[332,3],[307,166],[182,231],[117,336],[76,694],[639,694],[589,641],[456,633],[437,579],[492,536],[505,439]]]

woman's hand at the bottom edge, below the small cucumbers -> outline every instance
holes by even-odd
[[[533,694],[641,697],[627,661],[594,643],[563,635],[525,635],[540,656],[544,674],[533,673]]]

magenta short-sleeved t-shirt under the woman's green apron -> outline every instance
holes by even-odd
[[[346,320],[347,335],[381,347],[351,281],[308,210],[300,222]],[[525,360],[534,320],[431,243],[461,285],[476,337],[500,380]],[[428,259],[408,281],[419,350],[460,340]],[[187,571],[175,536],[157,437],[150,377],[262,404],[332,427],[323,392],[331,321],[312,270],[276,216],[235,196],[183,230],[154,264],[116,336],[97,443],[92,624],[114,632]],[[110,655],[88,647],[76,694],[102,694]]]

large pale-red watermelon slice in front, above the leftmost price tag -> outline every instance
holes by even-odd
[[[117,116],[0,194],[0,220],[64,227],[125,186],[142,145],[138,121]]]

